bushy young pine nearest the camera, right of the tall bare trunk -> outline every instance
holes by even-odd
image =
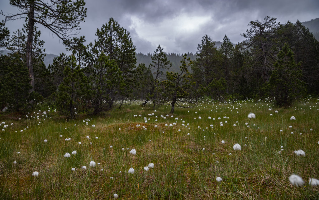
[[[64,65],[63,81],[58,87],[56,105],[68,119],[75,118],[76,112],[87,109],[88,99],[92,90],[87,77],[77,65],[76,58],[72,55]]]

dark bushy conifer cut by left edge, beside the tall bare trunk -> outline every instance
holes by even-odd
[[[28,70],[18,54],[0,56],[0,109],[26,108],[31,89]]]

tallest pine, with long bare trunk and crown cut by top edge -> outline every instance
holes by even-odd
[[[10,0],[10,4],[17,7],[20,13],[4,15],[6,20],[27,18],[27,45],[26,66],[29,71],[32,89],[34,90],[34,73],[32,52],[33,36],[36,24],[41,24],[62,39],[65,44],[70,44],[70,35],[77,34],[80,22],[86,17],[84,0]]]

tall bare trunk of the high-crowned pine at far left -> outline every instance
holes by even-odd
[[[32,66],[32,42],[33,42],[33,32],[34,32],[34,4],[30,2],[30,11],[28,13],[28,38],[26,42],[26,66],[29,70],[29,78],[31,78],[31,90],[34,91],[34,75],[33,75],[33,66]]]

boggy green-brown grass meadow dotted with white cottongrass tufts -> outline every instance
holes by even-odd
[[[154,111],[139,103],[94,117],[79,111],[70,122],[44,103],[35,113],[1,115],[0,199],[319,198],[319,187],[308,184],[319,179],[318,99],[286,109],[205,100],[174,114],[170,106]],[[305,156],[294,153],[299,149]],[[304,185],[293,186],[292,174]]]

